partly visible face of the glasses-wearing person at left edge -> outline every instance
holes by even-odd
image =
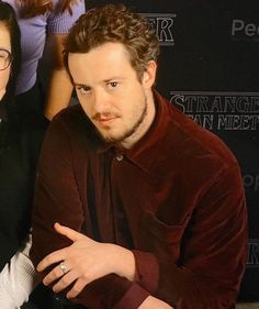
[[[7,26],[0,22],[0,48],[7,49],[11,52],[11,42],[10,42],[10,33]],[[0,51],[0,57],[3,57]],[[2,59],[3,60],[3,59]],[[7,84],[10,76],[10,66],[4,69],[0,70],[0,100],[2,99],[3,95],[5,93]]]

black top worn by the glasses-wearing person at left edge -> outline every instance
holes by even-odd
[[[0,102],[0,271],[30,231],[36,161],[45,129],[8,120]]]

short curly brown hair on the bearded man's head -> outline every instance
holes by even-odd
[[[88,53],[109,42],[122,43],[125,46],[139,80],[148,62],[157,62],[159,44],[150,23],[123,4],[106,4],[89,10],[71,27],[64,51],[68,73],[69,53]]]

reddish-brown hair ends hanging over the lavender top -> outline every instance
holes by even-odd
[[[59,0],[56,11],[64,12],[66,10],[72,14],[71,4],[78,0]],[[20,0],[21,4],[21,18],[30,19],[37,15],[42,15],[46,12],[52,12],[53,1],[52,0]]]

